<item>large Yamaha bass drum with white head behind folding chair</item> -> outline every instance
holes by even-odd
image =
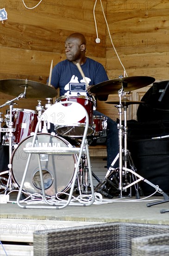
[[[71,144],[63,138],[50,134],[40,133],[38,136],[39,147],[71,147]],[[28,153],[24,152],[24,148],[31,147],[33,136],[27,137],[18,144],[18,147],[13,151],[11,157],[12,178],[19,187],[24,175],[25,166],[28,159]],[[58,192],[67,191],[73,179],[75,167],[77,163],[77,155],[40,155],[41,166],[44,177],[45,194],[52,196]],[[28,172],[25,178],[23,190],[28,194],[42,194],[40,186],[40,175],[38,167],[38,155],[32,154],[31,161],[28,167]]]

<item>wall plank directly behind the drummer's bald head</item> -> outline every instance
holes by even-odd
[[[86,31],[87,29],[85,29]],[[34,25],[19,26],[15,22],[5,21],[0,27],[1,47],[44,51],[64,54],[64,41],[75,30],[52,29],[47,26]],[[78,31],[78,30],[77,30]],[[105,57],[106,47],[104,35],[100,34],[100,44],[95,43],[93,34],[83,33],[87,38],[88,56]]]

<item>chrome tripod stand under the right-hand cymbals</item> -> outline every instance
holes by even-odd
[[[124,89],[123,89],[123,84],[122,84],[122,88],[119,90],[119,105],[116,105],[115,107],[118,108],[119,111],[119,124],[118,124],[118,129],[119,129],[119,153],[118,155],[115,157],[115,159],[113,160],[110,168],[108,169],[106,176],[104,178],[104,180],[102,180],[96,187],[95,187],[95,191],[102,191],[102,190],[106,190],[106,187],[104,187],[103,185],[108,182],[112,188],[119,190],[120,194],[119,197],[126,197],[123,196],[123,192],[127,191],[127,189],[130,189],[130,193],[128,196],[131,197],[131,177],[132,177],[132,185],[134,184],[135,189],[136,189],[136,195],[137,198],[139,198],[139,193],[138,193],[138,184],[137,184],[137,178],[134,175],[135,172],[135,167],[134,164],[132,162],[131,159],[131,154],[129,152],[129,150],[127,149],[127,133],[128,133],[128,128],[127,128],[127,114],[126,114],[126,108],[124,108],[124,126],[122,125],[122,104],[121,104],[121,97],[124,96],[126,93],[124,93]],[[123,148],[123,137],[124,137],[124,148]],[[114,163],[119,159],[119,168],[114,169],[113,165]],[[126,171],[127,169],[127,163],[129,162],[130,167],[133,171],[133,173],[130,173],[128,171]],[[128,169],[127,169],[128,170]],[[118,184],[118,179],[119,179],[119,184]],[[127,180],[127,178],[129,177],[129,182]],[[125,179],[125,181],[124,181]],[[128,185],[129,184],[129,185]],[[127,187],[126,187],[127,185]],[[102,189],[100,189],[102,187]],[[108,190],[106,190],[107,193]]]

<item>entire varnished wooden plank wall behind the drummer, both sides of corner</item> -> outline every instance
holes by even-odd
[[[39,1],[25,2],[32,7]],[[51,60],[56,65],[65,58],[64,40],[73,32],[87,37],[87,55],[104,65],[109,79],[124,74],[111,45],[100,0],[95,7],[95,17],[101,41],[95,43],[94,3],[95,0],[42,0],[38,7],[30,10],[25,8],[22,0],[1,1],[0,8],[5,7],[8,19],[0,21],[0,80],[27,78],[45,84]],[[102,5],[127,75],[168,80],[169,1],[102,0]],[[0,88],[3,88],[1,84]],[[0,105],[8,99],[13,99],[13,96],[0,91]],[[108,98],[118,99],[118,92]],[[34,100],[19,100],[17,108],[35,110],[37,100],[38,95]],[[41,100],[46,103],[45,95]],[[5,113],[6,109],[0,111]],[[117,108],[102,101],[98,101],[97,109],[113,119],[118,117]]]

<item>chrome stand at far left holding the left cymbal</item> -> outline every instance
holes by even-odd
[[[13,132],[15,131],[15,129],[13,128],[12,115],[13,115],[13,105],[16,104],[14,101],[19,100],[20,98],[26,98],[26,86],[25,86],[24,93],[19,94],[19,96],[14,98],[13,100],[6,101],[5,104],[0,106],[0,108],[3,108],[5,106],[9,105],[9,108],[10,108],[9,121],[8,121],[8,125],[7,125],[8,128],[0,128],[0,132],[8,133],[7,138],[8,138],[8,141],[9,141],[9,164],[8,164],[9,170],[0,173],[0,176],[4,175],[4,174],[9,175],[8,181],[6,183],[6,188],[7,189],[5,190],[5,194],[7,193],[8,190],[9,191],[12,190],[12,178],[11,178],[11,168],[12,168],[12,166],[10,164],[10,161],[11,161],[11,156],[12,156],[12,153],[13,153]]]

